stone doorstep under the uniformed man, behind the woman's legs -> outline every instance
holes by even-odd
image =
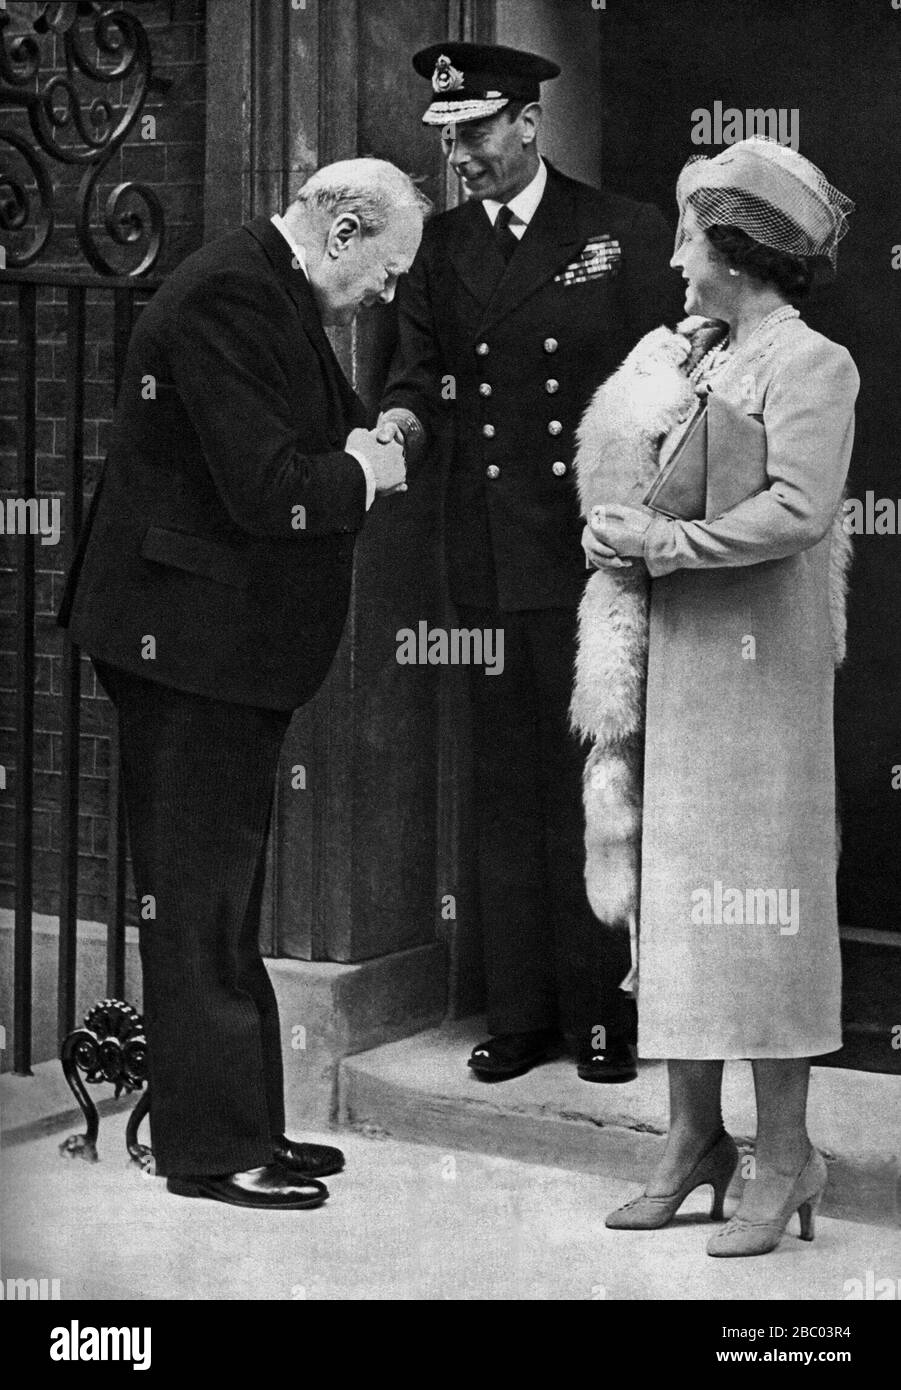
[[[341,1123],[371,1136],[644,1182],[666,1131],[663,1062],[642,1062],[627,1086],[581,1081],[567,1058],[485,1084],[466,1066],[485,1036],[482,1020],[464,1019],[345,1058]],[[726,1063],[723,1113],[742,1156],[752,1154],[747,1062]],[[901,1077],[815,1066],[809,1129],[830,1170],[823,1213],[901,1225]],[[740,1187],[737,1177],[736,1194]]]

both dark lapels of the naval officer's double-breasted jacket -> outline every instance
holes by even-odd
[[[548,164],[548,183],[535,215],[508,265],[496,249],[484,207],[469,203],[463,232],[450,247],[460,279],[482,306],[478,332],[506,318],[551,279],[596,227],[583,228],[570,181]]]

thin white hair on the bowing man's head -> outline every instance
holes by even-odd
[[[364,236],[384,232],[393,213],[416,208],[421,217],[431,202],[409,174],[387,160],[338,160],[311,174],[295,197],[295,204],[328,214],[353,213]]]

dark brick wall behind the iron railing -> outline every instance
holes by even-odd
[[[113,156],[97,183],[92,225],[102,227],[103,204],[120,182],[139,179],[149,183],[163,203],[165,236],[154,274],[172,270],[203,239],[203,161],[204,161],[204,0],[145,0],[127,3],[147,31],[153,71],[171,79],[165,93],[150,92],[143,107],[156,121],[156,129],[139,120],[128,139]],[[40,6],[7,4],[17,32],[26,32]],[[86,39],[90,25],[82,26]],[[43,60],[38,89],[43,90],[54,72],[64,72],[60,35],[42,40]],[[96,49],[86,43],[88,57]],[[100,60],[103,65],[103,58]],[[132,79],[117,81],[104,89],[115,113],[127,101]],[[78,79],[82,101],[97,93],[86,79]],[[114,117],[115,117],[114,113]],[[13,129],[33,143],[19,110],[0,106],[0,128]],[[65,143],[83,147],[72,131],[64,132]],[[145,138],[149,136],[149,138]],[[40,260],[32,268],[86,271],[75,236],[75,190],[83,165],[65,165],[40,156],[54,186],[57,224]],[[0,163],[7,158],[0,143]],[[7,246],[15,235],[1,235]],[[99,238],[104,252],[111,247]],[[124,267],[135,263],[125,249]],[[117,263],[120,264],[120,263]],[[85,353],[85,482],[88,505],[106,449],[113,409],[111,296],[92,292],[88,299],[88,341]],[[15,291],[0,284],[0,499],[15,495],[17,371],[15,371]],[[65,461],[65,295],[63,291],[39,291],[38,310],[38,495],[61,496],[68,485]],[[42,546],[38,541],[36,567],[36,677],[35,677],[35,908],[56,913],[60,873],[60,767],[61,710],[60,680],[63,634],[54,614],[60,603],[70,538],[60,546]],[[0,791],[0,903],[13,901],[13,844],[15,777],[15,582],[17,539],[0,537],[0,763],[7,769],[7,787]],[[110,766],[111,709],[99,691],[90,663],[82,662],[82,737],[81,737],[81,815],[79,815],[79,916],[106,919],[107,873],[107,805]],[[129,892],[129,917],[133,906]]]

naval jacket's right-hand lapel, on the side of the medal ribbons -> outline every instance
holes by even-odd
[[[484,217],[484,210],[481,211]],[[544,197],[485,307],[478,325],[480,334],[501,318],[506,318],[545,281],[556,275],[562,265],[566,265],[585,240],[587,234],[580,222],[576,200],[566,182],[548,165]]]

